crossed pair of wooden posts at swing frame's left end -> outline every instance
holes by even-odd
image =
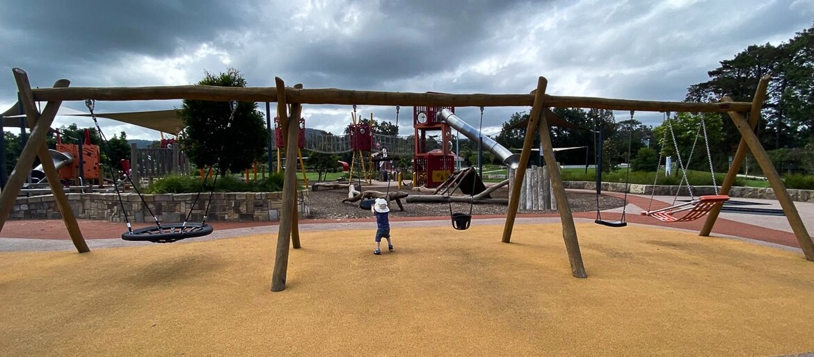
[[[20,68],[14,68],[12,72],[17,82],[20,102],[26,113],[28,127],[32,128],[32,130],[31,137],[29,137],[28,142],[26,142],[23,154],[20,155],[14,172],[11,172],[11,176],[14,180],[13,182],[9,180],[11,185],[7,185],[6,189],[0,194],[0,196],[2,196],[0,197],[0,207],[2,207],[0,208],[0,230],[2,230],[2,226],[6,223],[17,194],[20,193],[20,189],[23,187],[25,178],[28,176],[28,172],[33,164],[34,156],[38,155],[73,245],[80,253],[88,252],[90,248],[88,248],[85,238],[82,237],[77,219],[73,215],[68,197],[65,195],[61,181],[59,180],[59,173],[56,171],[54,162],[50,157],[48,147],[45,143],[46,136],[50,130],[50,124],[53,122],[57,111],[59,111],[59,106],[62,102],[48,102],[42,115],[40,115],[31,93],[28,75]],[[60,80],[57,81],[54,86],[63,88],[68,85],[70,85],[70,81]]]

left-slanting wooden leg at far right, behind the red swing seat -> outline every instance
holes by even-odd
[[[760,110],[763,108],[763,102],[766,99],[766,90],[768,89],[768,81],[770,79],[771,77],[768,75],[761,77],[760,81],[758,81],[758,87],[755,89],[755,96],[752,97],[752,110],[749,112],[749,129],[753,133],[755,132],[755,127],[760,119]],[[722,100],[721,102],[724,101]],[[732,159],[732,164],[729,165],[729,171],[726,172],[724,182],[720,184],[718,194],[729,194],[729,190],[732,189],[732,186],[735,184],[737,172],[741,171],[741,165],[743,164],[743,159],[746,159],[746,152],[748,150],[749,147],[746,145],[746,138],[741,137],[741,142],[737,144],[737,150],[735,151],[735,156]],[[715,207],[712,207],[709,213],[707,213],[707,218],[704,220],[704,225],[701,228],[701,231],[698,232],[699,236],[709,237],[710,233],[712,232],[712,227],[715,226],[716,220],[718,220],[720,209],[722,207],[722,205],[716,205]]]

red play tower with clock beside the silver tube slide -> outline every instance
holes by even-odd
[[[452,175],[455,155],[452,153],[452,129],[435,118],[435,113],[454,107],[413,107],[415,185],[433,189]]]

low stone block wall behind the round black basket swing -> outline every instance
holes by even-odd
[[[209,200],[208,193],[200,194],[67,194],[68,202],[77,218],[88,220],[109,220],[125,222],[125,214],[131,222],[151,222],[150,212],[162,222],[182,222],[190,209],[190,222],[204,219],[204,210],[209,205],[207,221],[276,221],[280,217],[282,193],[242,192],[214,193]],[[300,217],[310,216],[309,191],[301,190],[297,195],[297,211]],[[122,210],[124,207],[124,211]],[[10,220],[59,219],[59,209],[53,195],[17,198],[9,215]]]

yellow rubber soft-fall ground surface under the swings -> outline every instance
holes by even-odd
[[[723,237],[578,224],[303,232],[0,254],[0,355],[784,355],[814,350],[814,263]],[[386,246],[386,245],[385,245]]]

